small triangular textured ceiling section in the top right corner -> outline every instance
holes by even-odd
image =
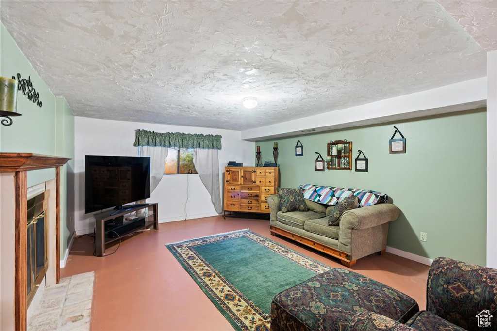
[[[497,1],[439,0],[487,52],[497,50]]]

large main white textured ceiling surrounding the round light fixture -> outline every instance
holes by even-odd
[[[484,49],[436,1],[0,6],[77,116],[244,130],[486,75]]]

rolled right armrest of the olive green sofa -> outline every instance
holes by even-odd
[[[347,210],[340,217],[340,231],[342,228],[349,230],[368,229],[395,221],[400,212],[400,209],[392,203],[379,203]]]

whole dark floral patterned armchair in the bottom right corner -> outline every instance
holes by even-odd
[[[497,330],[497,270],[437,258],[428,273],[425,311],[416,313],[406,324],[362,312],[346,330],[481,330],[480,313],[491,317],[486,330]]]

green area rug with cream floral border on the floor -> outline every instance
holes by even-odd
[[[273,297],[330,269],[248,229],[166,246],[236,330],[269,330]]]

